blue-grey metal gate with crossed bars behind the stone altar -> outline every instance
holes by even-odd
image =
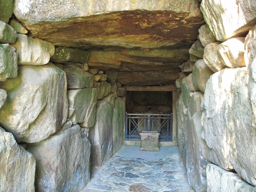
[[[142,131],[157,131],[160,133],[159,141],[172,141],[172,113],[126,113],[126,140],[140,140]]]

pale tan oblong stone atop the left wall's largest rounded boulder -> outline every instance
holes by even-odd
[[[11,46],[18,53],[18,65],[44,65],[54,54],[53,44],[23,34],[17,34],[16,42]]]

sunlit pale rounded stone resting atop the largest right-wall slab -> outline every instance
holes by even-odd
[[[245,67],[244,37],[231,38],[217,47],[221,63],[230,68]]]

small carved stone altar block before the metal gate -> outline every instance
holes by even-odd
[[[141,151],[160,151],[159,134],[157,131],[142,131],[140,133],[140,150]]]

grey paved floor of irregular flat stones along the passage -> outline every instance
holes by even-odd
[[[122,146],[102,167],[93,170],[82,192],[189,192],[178,147],[160,147],[160,152]]]

